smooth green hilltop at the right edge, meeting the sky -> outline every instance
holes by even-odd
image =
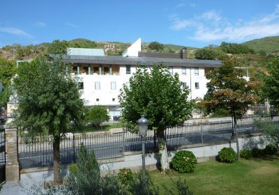
[[[242,44],[247,45],[256,52],[262,50],[268,53],[279,53],[279,36],[249,40],[247,42],[243,42]]]

